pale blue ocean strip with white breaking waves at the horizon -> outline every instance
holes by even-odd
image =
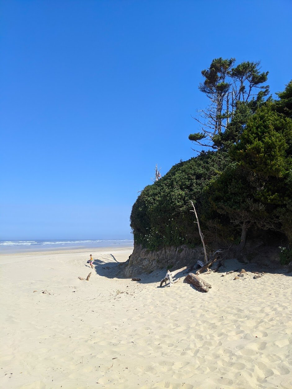
[[[93,249],[99,247],[131,246],[132,239],[88,239],[88,240],[0,240],[0,254],[28,251],[55,251],[65,249]]]

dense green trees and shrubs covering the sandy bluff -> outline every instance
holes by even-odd
[[[143,247],[197,245],[190,200],[209,247],[242,250],[250,228],[280,231],[292,243],[292,81],[273,100],[259,63],[234,62],[218,58],[202,71],[207,121],[197,118],[202,132],[189,138],[211,151],[174,165],[133,205],[131,227]]]

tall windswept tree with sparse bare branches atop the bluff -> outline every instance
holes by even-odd
[[[202,109],[199,117],[200,132],[189,135],[189,139],[203,146],[218,149],[214,143],[216,135],[223,133],[234,118],[239,102],[247,104],[262,100],[269,94],[268,72],[260,72],[260,62],[242,62],[234,67],[235,58],[216,58],[208,69],[202,70],[204,82],[199,90],[206,94],[210,103]]]

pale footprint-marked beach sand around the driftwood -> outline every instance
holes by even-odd
[[[2,388],[292,388],[291,273],[109,278],[131,251],[92,251],[89,282],[89,250],[0,256]]]

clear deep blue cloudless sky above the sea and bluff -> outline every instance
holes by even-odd
[[[292,78],[292,2],[1,1],[2,239],[128,238],[137,191],[195,155],[213,58]]]

